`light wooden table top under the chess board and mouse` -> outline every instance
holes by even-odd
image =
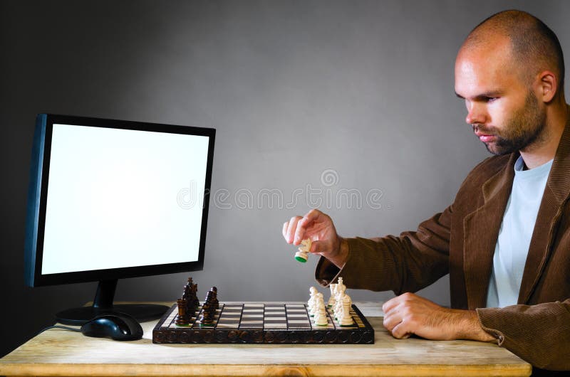
[[[170,305],[170,302],[160,304]],[[152,344],[51,329],[0,359],[0,376],[529,376],[531,366],[494,344],[393,339],[378,302],[356,305],[375,344]]]

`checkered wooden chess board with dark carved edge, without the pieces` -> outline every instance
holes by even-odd
[[[303,303],[219,303],[214,324],[204,326],[192,317],[188,326],[177,326],[174,304],[152,330],[153,343],[245,344],[373,344],[374,329],[356,305],[352,326],[339,326],[327,308],[326,326],[316,326]]]

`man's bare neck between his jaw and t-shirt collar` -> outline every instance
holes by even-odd
[[[556,154],[556,149],[558,149],[562,132],[564,132],[564,127],[566,127],[566,122],[570,115],[569,105],[564,104],[564,106],[549,110],[546,116],[546,129],[544,130],[546,134],[541,144],[539,146],[529,146],[529,148],[520,151],[527,169],[534,169],[554,159],[554,154]]]

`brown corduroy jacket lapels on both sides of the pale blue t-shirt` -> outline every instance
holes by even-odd
[[[569,108],[570,114],[570,108]],[[484,203],[463,221],[465,244],[465,287],[470,309],[485,307],[492,272],[493,255],[504,209],[514,179],[514,163],[519,153],[509,157],[507,164],[482,185]],[[528,304],[551,253],[551,240],[561,215],[561,207],[570,193],[570,117],[554,156],[546,188],[534,225],[527,262],[519,291],[519,304]]]

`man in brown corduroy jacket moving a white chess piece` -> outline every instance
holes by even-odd
[[[454,203],[416,232],[341,238],[318,210],[284,223],[311,238],[316,279],[393,290],[384,326],[396,338],[495,341],[538,368],[570,370],[570,117],[564,60],[534,16],[504,11],[467,37],[455,63],[466,122],[496,156]],[[450,274],[452,309],[413,293]]]

